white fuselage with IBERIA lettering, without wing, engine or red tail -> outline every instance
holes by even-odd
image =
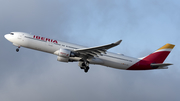
[[[56,41],[45,37],[34,36],[27,33],[16,32],[14,35],[6,34],[5,38],[12,42],[16,46],[22,46],[34,50],[39,50],[51,54],[58,55],[56,53],[59,49],[74,50],[79,48],[85,48],[80,45],[71,44],[62,41]],[[78,61],[78,57],[70,57],[74,61]],[[117,69],[127,69],[140,61],[140,59],[127,57],[122,54],[115,54],[107,52],[103,56],[94,57],[88,60],[91,64],[99,64]]]

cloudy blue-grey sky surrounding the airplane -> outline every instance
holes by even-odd
[[[179,101],[179,0],[0,0],[1,101]],[[169,69],[126,71],[58,62],[52,54],[16,47],[13,31],[139,58],[175,44]]]

